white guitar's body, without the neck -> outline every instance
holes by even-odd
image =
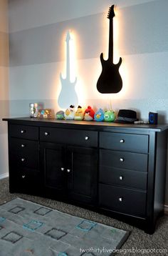
[[[65,109],[70,105],[77,106],[78,105],[78,96],[75,92],[75,84],[77,82],[77,78],[75,78],[74,82],[70,82],[69,78],[63,79],[62,75],[60,75],[61,79],[61,92],[58,97],[58,104],[61,108]]]

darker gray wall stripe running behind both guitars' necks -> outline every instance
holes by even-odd
[[[120,9],[117,44],[120,56],[168,51],[165,9],[167,0],[162,0],[162,4],[152,1]],[[68,29],[78,35],[78,59],[97,58],[107,51],[105,22],[104,14],[95,14],[11,33],[10,66],[62,61],[63,34]]]

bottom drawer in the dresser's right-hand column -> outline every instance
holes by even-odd
[[[100,184],[99,205],[115,212],[144,217],[146,192]]]

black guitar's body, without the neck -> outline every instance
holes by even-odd
[[[98,92],[102,94],[117,93],[122,89],[122,78],[119,73],[122,58],[117,64],[114,64],[110,59],[104,60],[103,54],[100,55],[102,64],[102,73],[97,82]]]

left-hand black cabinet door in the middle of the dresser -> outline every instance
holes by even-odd
[[[65,149],[60,144],[41,142],[44,187],[53,197],[65,195]]]

